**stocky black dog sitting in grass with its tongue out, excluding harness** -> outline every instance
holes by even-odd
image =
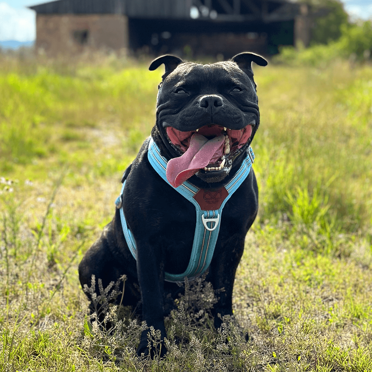
[[[151,137],[160,154],[166,160],[173,159],[172,169],[167,166],[167,179],[173,187],[150,164],[148,138],[123,177],[123,210],[137,246],[137,261],[126,243],[118,208],[79,265],[82,286],[90,284],[93,274],[102,279],[104,287],[125,274],[122,304],[136,306],[141,301],[143,320],[148,327],[160,330],[162,340],[166,337],[164,315],[172,306],[170,297],[176,298],[180,292],[180,286],[164,280],[164,273],[185,272],[197,222],[195,206],[174,187],[188,180],[203,191],[220,190],[247,158],[260,122],[252,61],[267,65],[264,58],[253,53],[211,65],[183,62],[171,55],[151,63],[150,70],[165,65]],[[184,161],[191,151],[191,157]],[[235,271],[257,209],[257,183],[250,169],[224,206],[206,276],[214,289],[224,289],[213,309],[216,328],[221,326],[221,317],[232,315]],[[147,332],[142,333],[138,355],[148,353]],[[157,350],[150,353],[154,355]],[[163,345],[161,355],[165,353]]]

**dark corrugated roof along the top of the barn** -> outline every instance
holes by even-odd
[[[214,18],[217,22],[269,20],[270,17],[272,20],[285,20],[293,19],[298,12],[298,4],[288,0],[57,0],[29,8],[38,14],[100,13],[125,14],[132,18],[190,19],[190,8],[197,6],[202,9],[205,4],[208,4],[208,9],[217,10],[218,16]],[[207,16],[204,20],[208,19]]]

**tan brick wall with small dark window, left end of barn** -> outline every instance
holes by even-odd
[[[36,16],[36,49],[48,56],[76,55],[86,50],[128,49],[128,19],[123,15]]]

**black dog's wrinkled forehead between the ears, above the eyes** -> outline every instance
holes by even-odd
[[[163,87],[230,85],[248,82],[248,76],[235,62],[217,62],[211,65],[186,62],[178,65],[166,77]]]

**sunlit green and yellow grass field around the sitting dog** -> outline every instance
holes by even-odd
[[[161,69],[1,64],[0,371],[372,371],[371,67],[255,69],[243,333],[231,319],[214,330],[214,292],[187,285],[169,353],[151,361],[135,356],[144,325],[129,309],[110,309],[111,334],[88,325],[77,265],[154,125]]]

